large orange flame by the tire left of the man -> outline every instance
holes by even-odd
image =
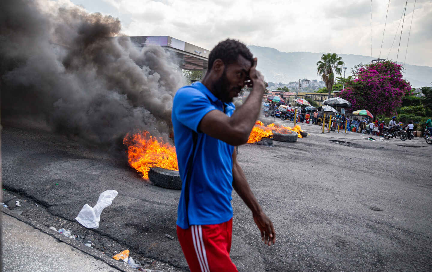
[[[127,145],[127,161],[130,167],[143,174],[143,178],[149,179],[151,167],[160,167],[169,170],[178,170],[177,154],[175,147],[164,143],[162,138],[150,136],[148,131],[130,135],[123,139]]]

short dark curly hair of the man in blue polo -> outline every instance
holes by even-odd
[[[225,65],[229,65],[238,60],[238,55],[254,64],[254,56],[244,43],[232,39],[221,41],[210,52],[208,70],[212,69],[213,62],[216,59],[221,59]]]

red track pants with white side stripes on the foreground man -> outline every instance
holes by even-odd
[[[191,272],[237,272],[229,257],[232,219],[216,225],[177,226],[177,237]]]

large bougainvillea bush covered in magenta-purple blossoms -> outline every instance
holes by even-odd
[[[411,92],[410,82],[402,78],[402,69],[402,65],[391,61],[356,66],[354,79],[346,83],[339,96],[351,102],[354,111],[366,109],[373,115],[396,114],[402,97]]]

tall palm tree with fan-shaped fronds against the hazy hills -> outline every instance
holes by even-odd
[[[330,98],[331,89],[334,84],[334,73],[342,76],[342,65],[342,57],[338,57],[336,53],[323,54],[321,60],[317,62],[317,73],[325,82],[328,90],[328,98]]]

